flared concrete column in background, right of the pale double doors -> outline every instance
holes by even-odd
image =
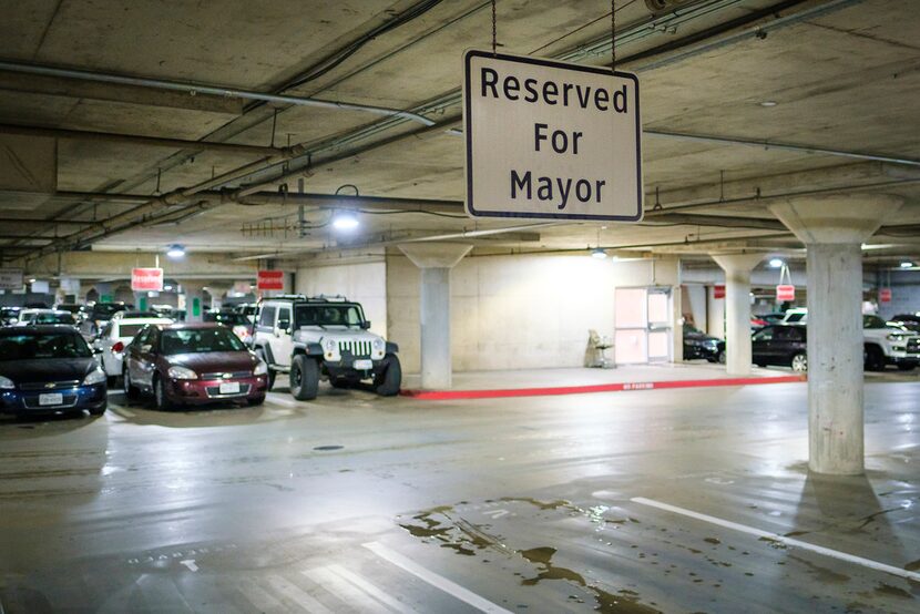
[[[766,254],[713,254],[725,272],[725,369],[750,373],[750,272]]]

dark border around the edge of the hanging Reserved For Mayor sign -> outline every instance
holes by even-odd
[[[497,60],[504,60],[509,62],[519,62],[524,64],[532,64],[538,66],[546,66],[553,69],[562,69],[570,71],[587,72],[592,74],[602,74],[605,76],[619,76],[627,79],[633,82],[635,88],[635,130],[636,130],[636,213],[634,215],[595,215],[595,214],[571,214],[571,213],[534,213],[534,212],[508,212],[493,209],[478,209],[473,203],[473,176],[472,176],[472,100],[468,94],[472,91],[472,70],[471,61],[473,58],[491,58]],[[523,218],[523,219],[572,219],[581,222],[641,222],[645,213],[645,192],[643,191],[642,182],[642,114],[640,102],[640,86],[638,76],[631,72],[611,71],[606,68],[589,66],[583,64],[573,64],[570,62],[560,62],[556,60],[546,60],[542,58],[531,58],[522,55],[512,55],[508,53],[493,53],[479,49],[469,49],[463,53],[463,137],[466,140],[466,155],[464,155],[464,183],[467,194],[464,198],[464,208],[467,215],[470,217],[498,217],[498,218]]]

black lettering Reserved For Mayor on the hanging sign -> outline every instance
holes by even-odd
[[[513,75],[500,76],[490,68],[481,70],[482,98],[504,98],[509,101],[540,103],[550,106],[571,106],[575,110],[597,110],[610,113],[627,113],[627,91],[624,84],[620,90],[592,88],[576,83],[521,80]],[[586,139],[581,131],[564,131],[546,123],[533,124],[533,149],[538,153],[550,155],[579,155],[579,146]],[[583,145],[582,145],[583,147]],[[510,173],[511,198],[525,198],[552,202],[562,211],[572,202],[600,203],[606,180],[533,176],[528,170],[512,168]]]

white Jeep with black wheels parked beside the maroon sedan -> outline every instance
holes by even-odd
[[[399,347],[368,328],[360,304],[344,297],[275,296],[258,305],[253,349],[268,365],[269,390],[277,373],[289,373],[297,400],[315,399],[320,379],[336,388],[368,380],[378,395],[397,395]]]

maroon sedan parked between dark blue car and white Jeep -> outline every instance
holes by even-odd
[[[156,408],[247,401],[262,405],[268,367],[219,324],[149,325],[124,350],[124,392]]]

